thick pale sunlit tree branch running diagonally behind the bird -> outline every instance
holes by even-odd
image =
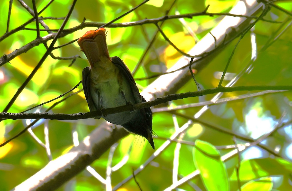
[[[245,5],[247,7],[244,10],[244,13],[241,9],[238,10],[237,5],[234,6],[232,10],[239,14],[246,13],[247,16],[251,16],[260,10],[263,4],[258,4],[256,1],[252,1],[249,5]],[[240,18],[239,20],[236,18],[236,21],[232,20],[231,17],[223,18],[223,20],[212,30],[212,34],[217,39],[217,44],[222,44],[228,40],[231,41],[237,37],[237,34],[242,32],[249,25],[249,21],[250,19],[247,18]],[[113,25],[114,24],[112,24],[112,26]],[[236,30],[232,30],[231,28]],[[195,47],[190,51],[190,54],[201,54],[217,48],[213,43],[214,38],[211,34],[208,34],[195,45]],[[212,54],[206,54],[206,57],[197,63],[194,68],[200,71],[200,69],[207,65],[218,52],[219,51],[212,52]],[[182,57],[181,60],[179,60],[168,71],[177,70],[185,65],[188,66],[189,62],[190,60]],[[182,69],[171,74],[166,74],[159,77],[147,88],[145,88],[142,92],[142,96],[146,100],[154,100],[157,97],[175,93],[175,91],[182,87],[188,79],[190,79],[188,68],[186,70]],[[149,102],[143,104],[149,104]],[[147,105],[146,107],[149,106]],[[67,154],[51,161],[38,173],[25,180],[13,190],[54,190],[56,187],[59,187],[85,169],[88,164],[93,162],[95,159],[98,159],[98,157],[100,157],[112,144],[127,134],[128,133],[124,130],[124,128],[110,126],[109,123],[106,122],[102,123],[100,128],[95,129],[84,139],[83,143],[77,147],[74,147]]]

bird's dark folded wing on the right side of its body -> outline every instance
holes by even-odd
[[[121,58],[114,56],[112,57],[112,62],[114,63],[114,65],[116,65],[120,72],[127,78],[129,79],[129,84],[131,86],[133,95],[135,97],[135,100],[137,103],[141,103],[142,102],[142,96],[140,95],[139,89],[136,85],[136,82],[131,74],[131,71],[128,69],[127,65],[123,62],[123,60],[121,60]]]

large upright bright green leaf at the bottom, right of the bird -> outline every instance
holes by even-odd
[[[225,164],[219,151],[210,143],[196,140],[193,159],[207,190],[230,190]]]

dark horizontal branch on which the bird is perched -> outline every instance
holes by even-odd
[[[75,113],[75,114],[53,114],[53,113],[0,113],[0,119],[58,119],[58,120],[77,120],[88,119],[93,117],[102,117],[103,115],[109,115],[114,113],[120,113],[125,111],[140,110],[146,107],[152,107],[162,103],[166,103],[172,100],[178,100],[183,98],[198,97],[207,94],[220,93],[220,92],[234,92],[234,91],[259,91],[259,90],[292,90],[292,86],[234,86],[234,87],[216,87],[212,89],[204,89],[194,92],[186,92],[179,94],[166,95],[161,98],[143,103],[137,103],[133,105],[124,105],[113,108],[104,108],[102,113],[100,111],[87,112],[87,113]]]

